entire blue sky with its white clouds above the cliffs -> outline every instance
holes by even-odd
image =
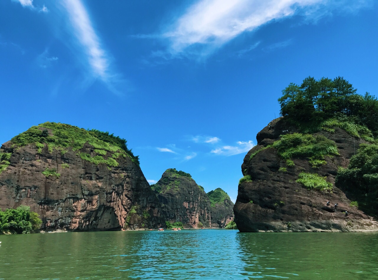
[[[377,93],[373,0],[0,2],[0,142],[45,121],[125,138],[236,199],[277,98],[311,75]]]

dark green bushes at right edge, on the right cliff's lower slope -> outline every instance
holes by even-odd
[[[335,185],[369,215],[378,215],[378,145],[360,145],[348,168],[340,168]]]

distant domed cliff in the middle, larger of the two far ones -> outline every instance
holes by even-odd
[[[203,187],[191,175],[176,169],[167,169],[151,188],[161,204],[161,215],[166,221],[182,222],[187,227],[211,224],[211,204]]]

